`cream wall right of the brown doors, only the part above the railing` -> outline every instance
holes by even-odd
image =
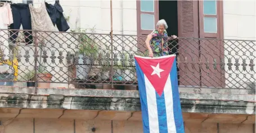
[[[225,39],[255,40],[255,1],[223,1]]]

